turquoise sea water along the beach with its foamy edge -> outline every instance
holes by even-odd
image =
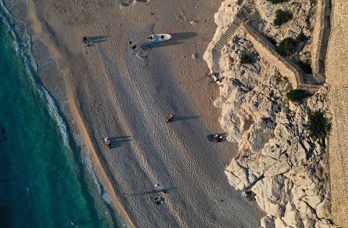
[[[118,227],[17,33],[0,17],[0,227]]]

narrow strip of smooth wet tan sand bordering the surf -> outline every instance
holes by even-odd
[[[46,31],[44,29],[44,26],[40,19],[38,17],[40,17],[41,12],[39,10],[37,10],[38,12],[35,12],[33,10],[35,4],[33,2],[33,0],[28,0],[28,13],[30,16],[30,21],[31,24],[33,26],[33,30],[35,31],[35,34],[39,35],[41,40],[43,42],[46,43],[46,45],[49,47],[49,49],[52,52],[52,57],[54,57],[57,62],[58,62],[58,66],[59,69],[62,70],[65,73],[65,80],[66,83],[68,85],[68,89],[67,89],[67,97],[69,98],[68,101],[70,101],[68,108],[69,108],[69,112],[73,115],[74,120],[76,120],[78,129],[79,129],[79,133],[84,137],[84,140],[87,144],[88,150],[89,150],[89,156],[90,159],[92,160],[93,163],[93,171],[96,175],[96,177],[98,178],[98,181],[100,182],[100,184],[103,186],[103,188],[106,190],[106,192],[108,193],[110,200],[111,200],[111,208],[114,210],[114,212],[119,212],[119,217],[124,220],[124,222],[127,223],[128,227],[133,228],[135,227],[133,222],[130,220],[130,218],[128,217],[127,212],[125,211],[124,207],[121,205],[120,201],[117,199],[115,192],[112,188],[112,185],[110,183],[110,180],[108,179],[108,177],[105,174],[105,171],[103,169],[103,167],[101,166],[101,163],[97,157],[97,154],[93,148],[92,142],[90,141],[90,138],[88,136],[87,130],[85,128],[85,125],[82,121],[81,116],[79,115],[79,109],[76,105],[76,103],[78,103],[78,100],[76,99],[74,90],[72,89],[72,82],[71,82],[71,73],[70,73],[70,64],[68,61],[66,61],[66,58],[60,53],[60,51],[57,50],[57,48],[55,47],[55,45],[53,43],[50,42],[49,38],[48,38],[48,34],[46,34]],[[115,216],[117,216],[117,214],[115,214]]]

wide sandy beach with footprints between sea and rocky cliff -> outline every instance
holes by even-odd
[[[220,5],[221,0],[29,3],[35,33],[65,73],[71,112],[94,171],[129,227],[260,226],[264,212],[224,174],[238,145],[206,139],[223,133],[213,105],[219,87],[209,83],[202,59]],[[152,33],[172,39],[148,45]],[[136,50],[127,45],[132,36]],[[167,124],[169,115],[174,121]],[[109,150],[103,137],[115,148]],[[153,205],[159,196],[164,203]]]

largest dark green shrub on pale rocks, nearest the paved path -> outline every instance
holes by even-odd
[[[307,130],[309,137],[314,141],[321,140],[327,132],[330,132],[329,118],[324,117],[325,112],[315,111],[308,116]]]

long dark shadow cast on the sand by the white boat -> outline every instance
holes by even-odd
[[[160,48],[160,47],[177,45],[177,44],[181,44],[185,42],[185,40],[189,40],[190,38],[197,36],[197,33],[192,33],[192,32],[170,33],[169,35],[171,35],[172,38],[168,41],[156,42],[156,43],[147,42],[142,44],[140,47],[141,49],[150,49],[150,48]]]

